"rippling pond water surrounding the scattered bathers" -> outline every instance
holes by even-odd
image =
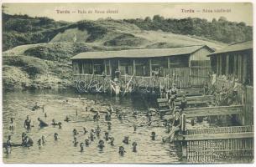
[[[88,100],[97,100],[100,104],[113,104],[114,107],[123,109],[126,114],[123,121],[115,119],[116,114],[112,114],[112,129],[107,130],[107,122],[105,121],[105,114],[101,114],[101,119],[97,122],[91,121],[93,113],[86,112],[85,106],[77,98],[77,94],[73,93],[53,93],[48,92],[8,92],[3,94],[3,141],[8,139],[8,135],[12,135],[12,142],[14,144],[21,144],[21,134],[25,132],[23,128],[26,115],[30,116],[34,128],[29,132],[29,136],[34,140],[34,146],[28,148],[13,147],[11,154],[4,154],[3,161],[5,163],[179,163],[177,149],[174,145],[162,144],[161,139],[166,137],[165,129],[162,126],[163,122],[159,117],[153,116],[153,123],[151,126],[147,124],[148,119],[145,116],[146,110],[142,102],[130,99],[115,99],[102,95],[84,94],[81,97]],[[70,104],[63,104],[65,99],[70,100]],[[86,100],[86,101],[88,101]],[[74,103],[72,103],[74,101]],[[47,113],[47,118],[44,118],[42,109],[31,111],[26,108],[33,106],[35,102],[39,105],[44,104],[44,112]],[[97,108],[100,104],[94,104]],[[76,109],[78,116],[76,116]],[[132,117],[133,109],[138,110],[138,118]],[[102,109],[104,110],[104,109]],[[71,118],[71,122],[64,121],[65,116]],[[8,130],[10,118],[15,118],[15,129],[13,132]],[[37,118],[43,119],[46,123],[51,124],[51,120],[62,123],[62,129],[58,126],[46,127],[39,129],[39,122]],[[86,121],[85,121],[86,119]],[[138,125],[136,133],[133,133],[133,124]],[[79,144],[75,147],[73,144],[72,130],[77,129],[79,134],[77,140],[84,142],[88,139],[90,133],[83,134],[83,127],[89,131],[96,129],[97,125],[102,129],[101,136],[88,146],[84,147],[84,152],[80,152]],[[150,134],[155,131],[156,140],[150,139]],[[58,133],[60,139],[54,140],[54,134]],[[114,137],[114,146],[108,144],[103,139],[105,132],[109,132],[110,136]],[[38,139],[44,135],[46,137],[46,144],[39,147]],[[130,143],[123,144],[124,136],[129,136]],[[97,147],[98,141],[103,139],[105,147],[100,150]],[[136,141],[137,153],[133,153],[132,143]],[[118,154],[119,146],[123,146],[126,153],[121,156]],[[3,149],[5,151],[5,149]]]

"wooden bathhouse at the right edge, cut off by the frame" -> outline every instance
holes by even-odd
[[[244,112],[241,122],[253,124],[253,41],[235,43],[208,56],[217,87],[238,90]]]

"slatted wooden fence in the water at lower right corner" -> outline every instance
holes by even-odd
[[[182,154],[192,163],[251,162],[253,126],[188,129]]]

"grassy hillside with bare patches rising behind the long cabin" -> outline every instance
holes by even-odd
[[[52,20],[44,23],[42,27],[35,21],[32,25],[31,33],[47,34],[45,36],[48,38],[47,43],[44,41],[44,35],[40,36],[44,38],[36,38],[33,41],[35,44],[22,45],[17,36],[11,38],[13,41],[18,41],[20,46],[3,52],[4,89],[69,88],[72,82],[70,58],[81,52],[129,48],[173,48],[198,44],[222,48],[227,45],[201,37],[167,33],[161,30],[142,30],[133,23],[121,20],[56,23],[56,28],[53,28]],[[6,25],[4,27],[6,28]],[[18,34],[21,30],[22,28],[5,29],[4,33]],[[27,38],[27,33],[29,32],[21,34]],[[44,43],[39,43],[41,41]],[[5,40],[3,45],[9,46]]]

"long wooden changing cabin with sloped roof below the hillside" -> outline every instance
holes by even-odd
[[[79,53],[71,61],[76,83],[81,80],[89,83],[91,78],[102,80],[102,73],[114,78],[119,71],[124,83],[132,78],[137,86],[154,88],[161,84],[169,88],[176,83],[178,87],[191,88],[201,86],[208,79],[211,66],[206,55],[212,52],[206,45],[128,49]]]

